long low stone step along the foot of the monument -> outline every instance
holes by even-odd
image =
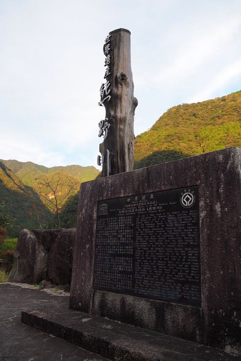
[[[66,308],[22,311],[22,322],[112,361],[241,361],[241,355]]]

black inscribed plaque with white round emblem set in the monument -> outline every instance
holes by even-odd
[[[93,287],[201,306],[198,186],[97,202]]]

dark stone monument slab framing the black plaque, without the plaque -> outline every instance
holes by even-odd
[[[81,185],[70,307],[241,352],[241,150],[189,157]],[[94,290],[97,201],[198,186],[201,308]]]

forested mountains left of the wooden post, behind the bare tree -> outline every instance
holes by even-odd
[[[65,207],[65,203],[74,195],[77,199],[80,184],[95,179],[98,174],[95,167],[47,168],[32,162],[0,161],[0,201],[5,203],[5,213],[16,218],[8,236],[17,236],[23,228],[52,227],[56,210],[62,227],[74,226],[76,211],[72,216],[66,211],[72,206],[68,202]],[[65,210],[63,219],[62,210]]]

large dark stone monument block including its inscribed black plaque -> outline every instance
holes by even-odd
[[[82,183],[70,308],[241,353],[240,260],[239,148]]]

